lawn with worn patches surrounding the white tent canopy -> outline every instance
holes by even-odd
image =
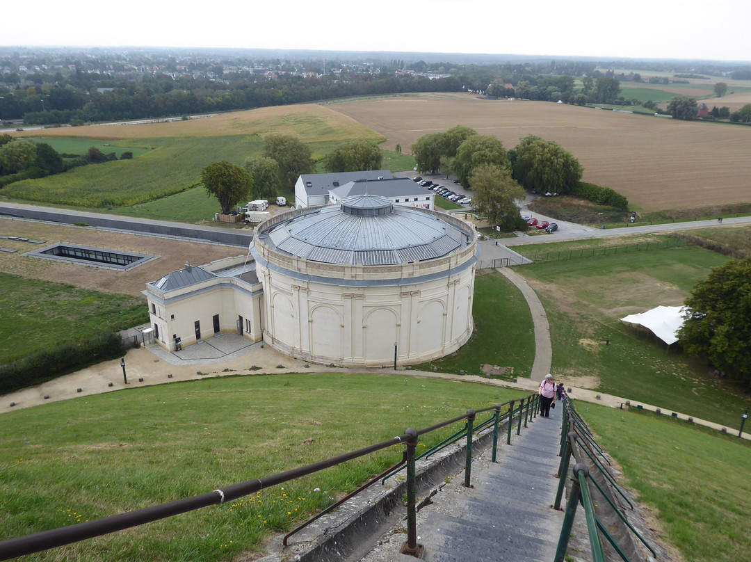
[[[650,237],[657,238],[657,237]],[[559,243],[556,249],[602,244]],[[612,243],[612,242],[610,242]],[[526,255],[544,251],[519,247]],[[553,375],[572,385],[654,404],[736,428],[751,400],[714,379],[704,361],[671,349],[623,316],[680,306],[711,267],[728,258],[697,246],[531,264],[515,270],[542,301],[553,342]],[[583,378],[582,378],[583,377]]]

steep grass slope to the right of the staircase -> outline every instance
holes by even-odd
[[[650,412],[577,409],[686,562],[748,559],[751,444]]]

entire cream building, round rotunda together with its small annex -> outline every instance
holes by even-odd
[[[381,366],[442,357],[472,334],[477,239],[453,216],[354,195],[261,223],[250,251],[146,284],[161,346],[231,332],[307,361]]]

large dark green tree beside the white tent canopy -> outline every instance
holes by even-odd
[[[751,258],[714,267],[686,299],[678,341],[733,379],[751,383]]]

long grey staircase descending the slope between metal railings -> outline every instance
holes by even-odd
[[[562,406],[536,417],[511,446],[499,446],[498,462],[488,449],[472,463],[472,488],[463,470],[418,512],[418,543],[433,562],[551,562],[563,513],[553,510]],[[504,436],[505,437],[505,436]],[[564,503],[565,505],[565,503]],[[363,562],[415,560],[399,554],[406,535],[394,533]],[[389,544],[390,543],[390,544]]]

